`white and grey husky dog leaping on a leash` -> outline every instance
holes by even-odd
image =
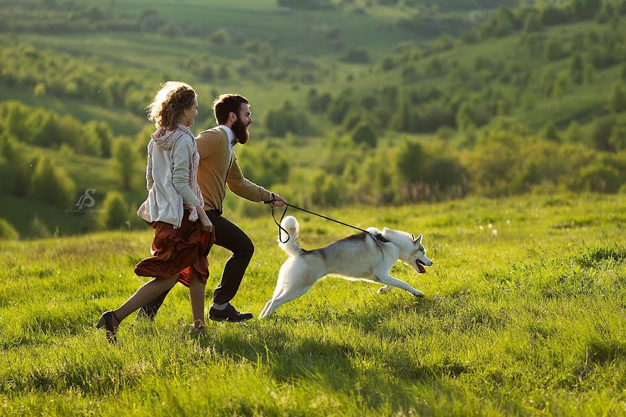
[[[416,297],[424,297],[404,281],[389,275],[392,265],[400,260],[411,265],[418,273],[424,274],[424,266],[433,265],[426,257],[422,246],[422,235],[413,236],[406,231],[370,227],[366,232],[348,236],[328,246],[316,250],[303,250],[296,242],[298,238],[298,220],[289,215],[280,222],[282,229],[289,234],[287,243],[282,243],[287,236],[282,229],[278,234],[279,246],[289,254],[289,259],[282,264],[278,282],[271,300],[259,315],[264,318],[279,306],[301,297],[326,275],[339,275],[346,279],[371,281],[385,284],[378,290],[387,293],[392,287],[402,288]]]

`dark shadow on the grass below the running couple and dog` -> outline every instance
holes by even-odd
[[[424,300],[421,300],[424,301]],[[392,403],[396,407],[415,402],[411,387],[415,384],[442,385],[443,392],[455,390],[442,377],[457,377],[470,372],[465,365],[444,359],[439,363],[421,363],[417,352],[406,351],[403,343],[383,347],[383,342],[371,337],[380,333],[380,320],[390,320],[407,311],[423,312],[433,307],[433,302],[410,305],[389,304],[383,309],[367,309],[358,316],[349,311],[327,316],[319,313],[319,327],[332,322],[350,322],[353,328],[365,334],[359,341],[343,340],[340,334],[323,337],[317,332],[294,334],[291,323],[282,318],[267,320],[260,329],[252,327],[247,338],[241,332],[211,334],[199,338],[202,347],[213,347],[234,361],[245,358],[260,363],[274,379],[282,382],[304,380],[321,384],[334,391],[344,391],[353,398],[361,398],[369,407],[382,407]],[[310,321],[310,320],[307,320]],[[293,325],[297,325],[296,322]],[[339,330],[340,332],[340,330]],[[369,335],[368,335],[369,334]],[[416,335],[417,336],[417,335]],[[387,337],[387,336],[385,336]]]

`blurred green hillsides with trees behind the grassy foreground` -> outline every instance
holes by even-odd
[[[626,191],[626,1],[1,5],[5,238],[141,227],[168,79],[198,90],[198,132],[248,97],[246,177],[300,205]]]

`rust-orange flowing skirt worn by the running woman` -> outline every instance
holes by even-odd
[[[178,274],[178,281],[189,286],[195,275],[204,284],[209,277],[207,256],[215,243],[215,229],[202,231],[200,220],[189,220],[185,210],[182,224],[178,229],[166,222],[146,222],[154,229],[154,239],[150,247],[150,258],[135,267],[139,277],[168,278]]]

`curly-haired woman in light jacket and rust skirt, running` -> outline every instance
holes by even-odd
[[[204,213],[197,174],[200,156],[189,126],[198,115],[198,97],[191,86],[168,81],[161,86],[148,119],[157,131],[147,151],[148,197],[137,214],[154,229],[150,258],[135,268],[140,277],[154,277],[120,308],[105,311],[97,327],[116,341],[118,325],[131,313],[188,280],[195,332],[204,332],[204,286],[209,276],[207,255],[215,242],[213,224]],[[198,221],[200,220],[200,221]]]

